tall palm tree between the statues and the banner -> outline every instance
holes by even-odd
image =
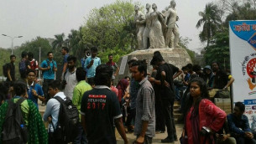
[[[207,46],[211,43],[211,38],[217,32],[218,26],[221,24],[221,18],[217,5],[213,3],[207,3],[203,12],[199,12],[201,19],[196,23],[196,28],[200,28],[202,31],[199,34],[201,42],[206,41]]]

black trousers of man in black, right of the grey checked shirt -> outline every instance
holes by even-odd
[[[167,127],[168,137],[174,139],[177,137],[175,128],[175,118],[174,118],[174,103],[175,99],[162,100],[162,111],[165,116],[165,125]]]

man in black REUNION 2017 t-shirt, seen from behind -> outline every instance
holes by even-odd
[[[110,90],[112,68],[101,64],[96,69],[95,87],[86,91],[81,100],[81,124],[89,144],[115,144],[113,123],[128,144],[117,95]]]

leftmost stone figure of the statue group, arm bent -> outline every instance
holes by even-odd
[[[144,33],[144,23],[146,22],[144,13],[139,11],[138,5],[134,6],[134,21],[136,23],[136,28],[137,28],[137,40],[138,40],[138,49],[143,49],[143,33]]]

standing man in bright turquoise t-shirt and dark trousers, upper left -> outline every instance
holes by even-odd
[[[54,60],[54,54],[52,52],[47,53],[47,59],[45,59],[41,65],[40,70],[43,72],[43,90],[44,90],[44,97],[45,100],[42,103],[44,106],[48,100],[50,100],[50,95],[48,95],[48,85],[51,81],[55,80],[55,72],[57,71],[57,64]]]

